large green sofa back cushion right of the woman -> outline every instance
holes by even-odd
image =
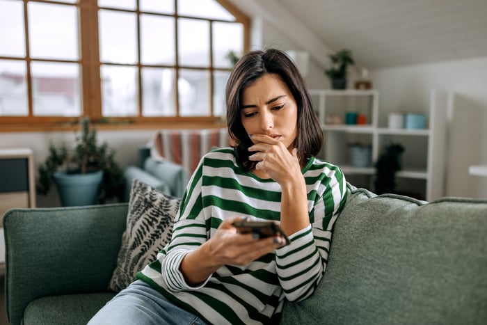
[[[327,322],[327,320],[329,322]],[[349,187],[328,267],[282,324],[486,324],[487,201]]]

